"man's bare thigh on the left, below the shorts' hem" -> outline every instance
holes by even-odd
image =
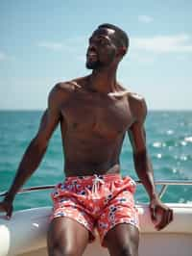
[[[50,224],[47,245],[49,256],[81,256],[88,243],[89,231],[76,220],[54,218]]]

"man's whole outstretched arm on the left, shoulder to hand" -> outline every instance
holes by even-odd
[[[12,201],[16,192],[23,186],[26,180],[35,172],[46,151],[48,141],[60,121],[59,86],[56,86],[49,94],[48,108],[42,115],[36,137],[31,141],[18,166],[12,186],[0,203],[0,211],[7,212],[8,218],[12,216]]]

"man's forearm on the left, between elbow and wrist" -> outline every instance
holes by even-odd
[[[7,200],[13,201],[16,192],[23,186],[27,179],[34,173],[46,151],[45,145],[40,145],[36,139],[31,141],[18,166],[12,186],[6,195]]]

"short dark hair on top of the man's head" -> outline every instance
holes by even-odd
[[[126,47],[126,49],[128,49],[130,42],[129,42],[129,37],[125,31],[123,31],[119,27],[109,24],[109,23],[104,23],[104,24],[99,25],[98,29],[101,29],[101,28],[107,28],[107,29],[114,30],[115,34],[116,34],[115,36],[118,39],[118,41],[120,42],[120,45],[124,46],[124,47]]]

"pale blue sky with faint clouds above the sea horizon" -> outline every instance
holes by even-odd
[[[0,1],[0,109],[45,109],[60,82],[89,73],[101,23],[130,37],[118,80],[151,110],[192,110],[192,1]]]

